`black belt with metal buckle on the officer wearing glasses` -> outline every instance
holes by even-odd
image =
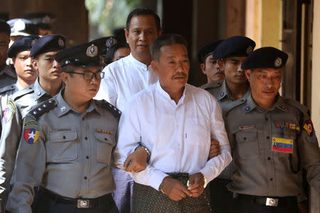
[[[55,194],[55,192],[51,192],[44,187],[40,187],[39,195],[54,200],[56,203],[73,205],[78,209],[94,209],[95,207],[114,202],[111,193],[96,198],[69,198]]]

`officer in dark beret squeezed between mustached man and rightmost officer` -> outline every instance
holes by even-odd
[[[222,70],[225,70],[225,80],[208,84],[205,88],[217,99],[223,115],[233,107],[245,102],[250,94],[250,87],[241,68],[243,60],[255,48],[255,42],[245,36],[233,36],[223,40],[213,51],[213,59],[218,60]],[[227,130],[228,131],[228,130]],[[227,185],[231,181],[233,162],[210,182],[211,205],[214,212],[228,212],[233,193]]]

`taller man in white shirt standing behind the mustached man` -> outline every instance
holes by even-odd
[[[140,90],[154,84],[158,77],[150,66],[151,43],[161,35],[160,18],[154,11],[134,9],[124,29],[131,54],[107,65],[102,72],[100,90],[95,99],[105,99],[122,111],[127,100]],[[113,194],[120,213],[130,212],[132,178],[123,170],[112,169],[117,186]]]

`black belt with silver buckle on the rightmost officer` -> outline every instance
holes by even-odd
[[[235,198],[252,200],[255,204],[261,204],[270,207],[289,206],[297,204],[297,197],[265,197],[255,195],[235,194]]]

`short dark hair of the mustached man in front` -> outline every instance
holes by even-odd
[[[161,35],[159,38],[156,38],[154,40],[154,43],[151,45],[151,57],[152,60],[159,61],[160,58],[160,49],[163,46],[171,46],[174,44],[181,44],[184,45],[187,48],[187,42],[182,37],[182,35],[178,34],[167,34],[167,35]]]

